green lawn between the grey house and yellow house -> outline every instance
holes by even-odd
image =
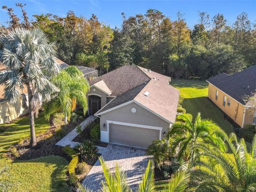
[[[195,117],[198,112],[202,118],[212,119],[227,134],[234,132],[234,127],[224,118],[223,113],[208,98],[206,81],[172,79],[171,85],[180,90],[184,101],[182,107]]]

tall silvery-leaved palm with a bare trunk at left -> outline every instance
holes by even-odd
[[[57,75],[59,65],[54,61],[54,44],[49,43],[40,29],[14,29],[0,37],[1,62],[6,70],[0,74],[4,84],[4,99],[17,102],[21,90],[27,87],[30,125],[30,147],[36,145],[34,116],[38,115],[42,102],[50,99],[58,89],[49,76]],[[1,64],[0,64],[1,65]]]

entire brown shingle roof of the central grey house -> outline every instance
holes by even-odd
[[[118,69],[120,71],[118,71]],[[138,66],[123,66],[118,69],[115,70],[115,73],[108,75],[108,77],[105,76],[101,78],[104,82],[110,77],[116,80],[116,84],[118,84],[118,86],[113,86],[116,89],[115,92],[122,92],[124,90],[122,88],[123,86],[132,87],[132,83],[134,82],[133,79],[126,78],[126,76],[130,77],[130,73],[132,74],[133,72],[137,77],[135,82],[141,82],[141,84],[136,84],[132,89],[117,95],[115,99],[111,100],[105,107],[100,109],[96,115],[107,113],[113,108],[118,108],[118,106],[123,106],[125,103],[132,101],[165,119],[167,122],[175,122],[179,101],[179,91],[169,85],[169,82],[171,81],[170,77],[166,77]],[[129,71],[127,71],[127,69],[129,69]],[[118,81],[114,76],[115,74],[118,74],[118,76],[123,77],[125,80],[122,81],[120,79]],[[141,79],[138,77],[141,77]],[[129,82],[129,79],[131,82]],[[95,82],[97,82],[96,80],[97,79],[95,79]],[[111,90],[110,87],[109,89]],[[121,90],[118,91],[118,89]],[[146,92],[148,92],[148,95],[145,95]]]

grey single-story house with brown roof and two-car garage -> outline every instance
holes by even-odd
[[[90,81],[90,115],[100,117],[101,141],[146,148],[175,122],[179,91],[170,77],[122,66]]]

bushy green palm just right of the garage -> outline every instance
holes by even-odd
[[[172,129],[167,133],[171,154],[177,153],[178,159],[183,158],[186,162],[190,161],[192,165],[199,149],[194,146],[199,143],[226,151],[227,147],[223,140],[225,133],[218,125],[209,120],[202,120],[200,113],[197,114],[194,123],[186,114],[180,115],[179,119],[182,119],[183,122],[174,123]]]

